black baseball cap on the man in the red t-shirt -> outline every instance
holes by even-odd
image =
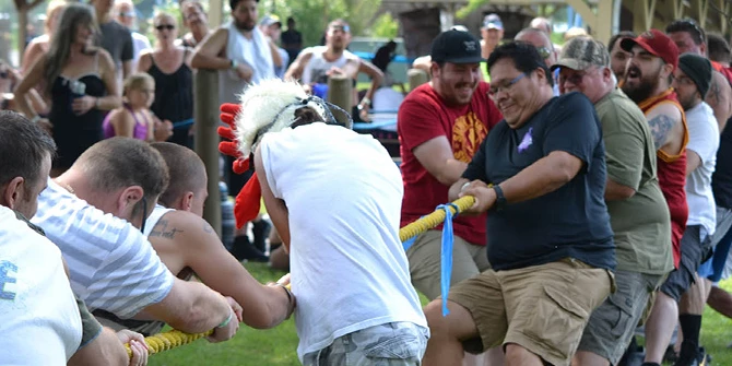
[[[429,56],[434,62],[477,63],[485,61],[481,56],[481,42],[469,32],[457,29],[440,33],[432,43]]]

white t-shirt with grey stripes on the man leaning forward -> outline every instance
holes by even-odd
[[[173,288],[173,274],[139,229],[51,179],[38,197],[38,212],[31,222],[61,249],[71,288],[90,310],[131,318]]]

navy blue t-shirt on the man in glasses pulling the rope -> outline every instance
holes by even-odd
[[[585,167],[553,192],[488,213],[488,260],[496,271],[567,257],[595,268],[615,268],[613,231],[604,200],[605,147],[594,107],[585,95],[552,98],[516,130],[500,121],[463,177],[497,185],[554,151],[579,157]]]

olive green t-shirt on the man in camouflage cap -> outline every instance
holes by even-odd
[[[619,88],[594,107],[602,125],[607,179],[636,191],[628,199],[606,202],[617,270],[665,274],[673,269],[671,217],[646,116]]]

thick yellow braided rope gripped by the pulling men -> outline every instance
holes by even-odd
[[[452,203],[458,206],[457,212],[454,208],[450,206],[452,214],[456,214],[472,206],[475,203],[475,198],[472,196],[465,196],[452,201]],[[400,228],[399,239],[406,241],[408,239],[415,237],[441,224],[442,222],[445,222],[445,210],[435,210],[435,212]],[[287,288],[291,288],[290,284],[287,284]],[[145,337],[145,343],[147,344],[149,354],[154,355],[179,345],[191,343],[200,338],[211,335],[211,333],[213,333],[213,329],[208,332],[196,334],[184,333],[179,330],[173,329],[165,333]],[[132,350],[130,350],[130,345],[125,344],[125,349],[127,349],[127,355],[132,356]]]

